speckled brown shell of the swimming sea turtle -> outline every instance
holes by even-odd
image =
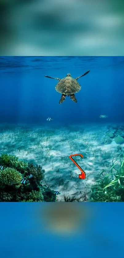
[[[57,83],[55,89],[59,93],[70,96],[80,91],[81,85],[74,78],[67,76]]]

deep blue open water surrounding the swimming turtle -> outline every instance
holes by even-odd
[[[54,123],[96,122],[100,114],[107,121],[124,119],[124,57],[1,57],[0,58],[0,118],[1,122]],[[90,70],[78,82],[81,91],[59,105],[61,94],[55,90],[57,80],[67,73],[78,77]]]

